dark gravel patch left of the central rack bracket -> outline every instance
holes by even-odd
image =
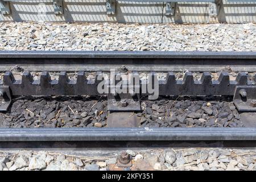
[[[92,127],[106,125],[104,97],[24,97],[0,114],[0,127]]]

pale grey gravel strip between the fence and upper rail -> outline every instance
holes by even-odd
[[[0,50],[256,51],[256,24],[0,23]]]

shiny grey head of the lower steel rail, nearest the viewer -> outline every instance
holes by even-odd
[[[256,128],[0,129],[0,142],[256,140]]]

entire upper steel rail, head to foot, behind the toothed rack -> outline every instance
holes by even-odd
[[[24,71],[110,71],[125,65],[130,71],[254,72],[256,52],[164,51],[0,51],[0,71],[19,65]]]

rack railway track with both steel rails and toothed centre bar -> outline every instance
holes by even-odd
[[[118,92],[117,80],[113,82],[111,74],[115,69],[114,76],[123,76],[122,81],[123,90],[126,93]],[[2,72],[0,81],[1,90],[1,111],[0,114],[2,121],[24,123],[27,121],[35,122],[35,118],[38,118],[42,122],[59,121],[57,119],[61,113],[68,114],[71,123],[85,121],[86,117],[89,122],[85,126],[81,126],[80,123],[76,126],[64,126],[60,128],[49,128],[49,125],[36,125],[37,127],[24,128],[26,126],[13,126],[0,128],[0,144],[1,147],[17,146],[17,143],[38,143],[38,146],[42,147],[43,143],[88,143],[92,141],[103,142],[111,141],[119,144],[123,142],[236,142],[235,145],[250,143],[255,144],[256,139],[256,127],[255,127],[255,91],[256,81],[254,72],[256,72],[256,53],[255,52],[19,52],[19,51],[2,51],[0,52],[0,71]],[[48,72],[47,72],[48,71]],[[181,79],[177,78],[177,72],[183,72]],[[50,72],[50,73],[49,73]],[[218,72],[218,73],[217,73]],[[236,73],[235,76],[230,72]],[[52,74],[55,76],[52,76]],[[148,73],[149,75],[142,77],[142,75]],[[159,73],[162,77],[159,77]],[[195,76],[200,75],[199,77]],[[90,74],[93,76],[90,77]],[[132,82],[129,74],[131,74]],[[160,74],[160,75],[161,75]],[[214,74],[217,77],[214,77]],[[56,76],[57,75],[57,76]],[[89,79],[91,78],[91,79]],[[105,79],[104,79],[105,78]],[[139,82],[136,84],[136,79]],[[101,81],[108,83],[106,85],[106,93],[102,93],[98,90],[98,85]],[[127,81],[127,82],[125,82]],[[131,84],[131,88],[129,84]],[[153,83],[153,86],[150,85]],[[154,84],[156,83],[156,84]],[[113,85],[111,85],[113,84]],[[151,88],[149,87],[151,86]],[[143,88],[146,88],[143,92]],[[154,93],[151,90],[154,90]],[[137,92],[138,91],[138,92]],[[164,104],[168,100],[172,100],[171,105],[163,111],[163,115],[157,115],[155,119],[152,118],[154,112],[160,114],[159,108],[150,104],[150,108],[153,113],[148,114],[147,107],[142,103],[146,103],[148,98],[152,98],[158,91],[160,97],[156,100],[156,103],[162,102],[160,99],[165,98]],[[51,113],[54,113],[52,118],[43,118],[42,107],[36,108],[39,105],[36,101],[34,103],[35,109],[32,110],[33,105],[28,107],[26,102],[20,104],[20,107],[15,106],[17,100],[23,100],[24,97],[37,97],[42,98],[49,96],[92,96],[92,100],[88,101],[88,112],[84,118],[75,118],[76,115],[81,115],[84,111],[82,107],[76,107],[72,109],[68,104],[65,109],[63,103],[54,101],[55,108],[49,113],[45,113],[46,117]],[[95,97],[96,96],[96,97]],[[106,107],[101,110],[93,110],[93,106],[99,101],[98,97],[105,97]],[[201,104],[195,106],[197,109],[191,109],[189,106],[193,102],[189,102],[184,110],[179,110],[176,106],[176,102],[180,102],[176,98],[170,98],[170,96],[178,96],[181,100],[184,97],[195,97],[194,100],[200,98],[209,98],[213,102],[200,101]],[[147,98],[148,97],[148,98]],[[214,98],[225,98],[225,102],[229,105],[232,104],[232,109],[226,111],[222,110],[222,107],[226,105],[225,102],[214,106],[217,110],[215,114],[207,115],[207,108],[213,108],[213,105],[219,101],[214,101]],[[79,97],[80,98],[80,97]],[[79,98],[74,101],[77,105],[82,105],[84,100],[79,103]],[[231,98],[231,99],[230,99]],[[67,99],[68,100],[68,99]],[[201,99],[202,100],[202,99]],[[90,105],[89,105],[89,102]],[[95,102],[95,104],[94,104]],[[43,105],[48,105],[48,102],[43,102]],[[57,104],[56,104],[57,103]],[[58,105],[59,103],[59,105]],[[212,103],[212,104],[210,104]],[[87,105],[84,104],[84,105]],[[24,105],[24,107],[23,107]],[[58,107],[56,108],[56,105]],[[65,104],[64,104],[65,105]],[[210,106],[212,105],[212,106]],[[236,107],[234,107],[236,106]],[[51,107],[51,106],[50,106]],[[174,108],[172,108],[174,107]],[[190,109],[187,109],[187,108]],[[201,109],[201,107],[204,109]],[[19,113],[19,109],[22,109]],[[87,107],[86,107],[87,108]],[[185,114],[184,123],[204,122],[204,127],[191,127],[183,125],[179,119],[179,115],[176,114],[175,121],[168,122],[181,122],[177,126],[172,124],[163,127],[159,123],[159,127],[154,125],[138,125],[141,123],[142,118],[150,119],[153,123],[164,122],[165,119],[173,117],[171,113],[175,114],[175,109],[179,110],[181,114]],[[230,106],[231,108],[231,106]],[[201,110],[200,110],[201,109]],[[224,108],[225,109],[225,108]],[[32,110],[32,111],[31,111]],[[75,111],[74,111],[75,110]],[[200,110],[201,115],[195,116],[196,111]],[[222,110],[218,113],[218,110]],[[15,116],[15,111],[18,113]],[[210,111],[209,111],[210,112]],[[212,112],[215,112],[213,110]],[[91,113],[91,114],[90,114]],[[100,115],[104,113],[105,117],[100,118]],[[169,115],[166,115],[169,113]],[[194,115],[193,115],[194,114]],[[20,116],[22,115],[22,116]],[[150,115],[150,118],[147,118]],[[232,117],[230,117],[232,115]],[[240,117],[243,115],[243,117]],[[239,117],[238,117],[239,116]],[[20,118],[23,118],[19,120]],[[202,118],[201,118],[202,117]],[[230,117],[230,118],[229,118]],[[31,119],[32,118],[32,119]],[[94,120],[98,118],[98,121],[105,122],[105,127],[98,128]],[[160,118],[160,119],[159,119]],[[226,122],[227,125],[222,124],[207,126],[208,120],[214,118],[214,123],[224,121],[225,118],[229,118]],[[200,120],[201,119],[201,120]],[[203,120],[202,120],[203,119]],[[47,120],[47,121],[46,121]],[[63,121],[60,119],[60,121]],[[241,122],[241,125],[232,123]],[[98,123],[98,122],[97,122]],[[248,125],[249,123],[249,125]],[[230,124],[230,125],[229,125]],[[32,126],[32,124],[31,124]],[[91,127],[89,127],[91,126]],[[103,125],[102,125],[103,126]],[[198,126],[198,125],[197,125]],[[6,144],[9,143],[9,144]],[[12,143],[12,144],[10,144]],[[40,144],[41,143],[41,144]],[[170,144],[169,143],[169,144]],[[56,144],[58,146],[58,144]],[[51,145],[49,145],[51,146]],[[64,146],[68,146],[64,145]],[[77,144],[79,146],[79,144]],[[83,145],[84,146],[84,145]]]

